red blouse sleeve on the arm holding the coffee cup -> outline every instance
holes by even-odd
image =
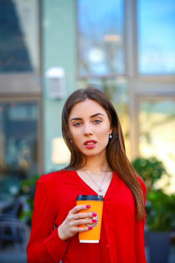
[[[54,229],[53,209],[46,192],[44,175],[36,181],[34,211],[30,240],[27,245],[27,263],[59,262],[68,242],[61,240]]]

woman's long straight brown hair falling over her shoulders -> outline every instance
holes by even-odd
[[[71,143],[73,138],[71,137],[69,129],[69,114],[71,108],[76,103],[88,99],[99,103],[108,114],[113,132],[112,138],[108,141],[108,145],[106,146],[107,160],[113,171],[118,173],[120,178],[132,191],[137,206],[137,220],[143,219],[145,212],[142,188],[138,180],[139,176],[126,156],[125,143],[118,115],[111,101],[102,91],[99,90],[99,88],[96,87],[96,85],[89,85],[85,89],[74,91],[64,104],[62,110],[62,134],[63,139],[71,152],[71,159],[69,165],[61,170],[77,170],[83,168],[83,160],[87,162],[86,156],[83,155],[74,143]]]

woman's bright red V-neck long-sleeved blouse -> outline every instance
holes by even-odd
[[[145,198],[146,188],[141,185]],[[80,194],[97,193],[76,171],[51,172],[36,182],[27,262],[145,263],[145,220],[136,221],[132,192],[116,172],[104,196],[99,243],[79,243],[78,234],[68,242],[59,238],[57,228],[76,206]]]

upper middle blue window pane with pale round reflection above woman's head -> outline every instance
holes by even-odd
[[[77,3],[79,74],[124,73],[123,1]]]

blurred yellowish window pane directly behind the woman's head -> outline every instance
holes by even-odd
[[[128,83],[123,77],[79,80],[78,88],[95,84],[105,93],[115,107],[122,126],[127,157],[130,159],[129,141],[129,94]]]

